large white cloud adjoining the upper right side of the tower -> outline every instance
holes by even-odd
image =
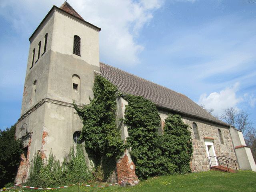
[[[102,28],[101,57],[120,65],[133,65],[140,62],[139,53],[144,49],[136,42],[140,30],[163,3],[163,0],[87,0],[80,12],[86,20]]]

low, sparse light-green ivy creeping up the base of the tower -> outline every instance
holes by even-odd
[[[34,158],[30,178],[27,184],[38,187],[60,186],[77,182],[86,182],[92,179],[92,173],[86,166],[82,145],[77,144],[76,153],[71,148],[68,157],[60,164],[50,153],[46,163],[40,154]]]

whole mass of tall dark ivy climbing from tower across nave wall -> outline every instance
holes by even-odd
[[[94,158],[96,170],[103,172],[103,180],[113,172],[125,148],[130,150],[140,179],[190,172],[192,139],[188,125],[179,115],[168,115],[164,134],[159,135],[160,116],[155,104],[141,96],[124,96],[128,102],[124,123],[128,126],[129,137],[123,144],[116,126],[116,86],[96,76],[93,92],[90,104],[82,108],[74,106],[84,124],[81,139],[85,140],[86,150]]]

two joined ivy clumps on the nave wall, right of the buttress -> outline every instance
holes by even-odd
[[[127,145],[140,179],[150,176],[190,172],[192,143],[188,125],[179,115],[168,115],[164,134],[158,134],[160,117],[154,103],[141,96],[125,97],[128,105],[124,122],[128,126]]]

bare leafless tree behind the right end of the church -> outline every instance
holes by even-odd
[[[230,107],[223,110],[220,120],[227,122],[236,129],[242,131],[247,146],[250,146],[252,156],[256,162],[256,129],[252,126],[249,114],[244,110]]]

